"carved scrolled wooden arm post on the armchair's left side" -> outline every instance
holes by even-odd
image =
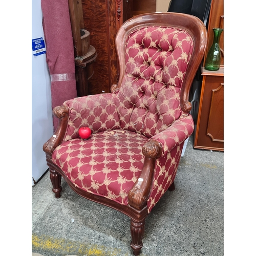
[[[62,142],[69,120],[69,108],[67,106],[55,106],[53,114],[59,119],[58,127],[54,135],[42,146],[44,152],[51,157],[55,148]]]

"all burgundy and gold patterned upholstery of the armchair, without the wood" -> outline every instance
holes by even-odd
[[[54,163],[80,188],[120,204],[143,167],[142,146],[148,139],[162,144],[157,159],[148,212],[172,184],[184,140],[194,130],[182,113],[180,90],[193,52],[193,40],[175,28],[146,27],[127,37],[125,75],[117,93],[68,100],[69,124]],[[92,136],[82,141],[81,126]]]

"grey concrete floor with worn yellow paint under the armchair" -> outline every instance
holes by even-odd
[[[175,179],[146,219],[141,256],[222,256],[223,152],[189,138]],[[47,173],[32,187],[32,255],[133,255],[130,219],[78,196],[62,179],[55,199]]]

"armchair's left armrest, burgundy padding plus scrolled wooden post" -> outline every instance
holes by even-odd
[[[77,138],[82,126],[90,127],[92,133],[120,128],[114,94],[111,93],[67,100],[62,106],[56,106],[53,113],[59,118],[58,127],[43,146],[50,156],[63,141]]]

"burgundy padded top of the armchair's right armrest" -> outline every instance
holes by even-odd
[[[171,151],[175,146],[181,144],[194,131],[194,121],[191,115],[183,114],[163,132],[156,134],[152,139],[162,144],[163,152]]]

